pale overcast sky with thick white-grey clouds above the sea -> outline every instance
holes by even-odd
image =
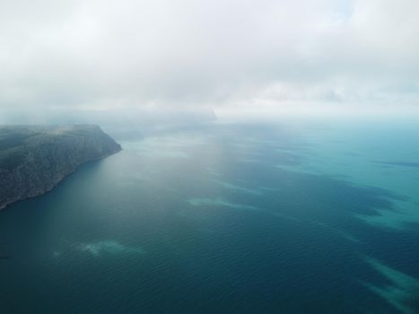
[[[419,106],[417,0],[0,0],[0,109]]]

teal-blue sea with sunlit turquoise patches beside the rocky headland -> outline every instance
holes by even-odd
[[[419,313],[419,124],[122,141],[0,212],[1,313]]]

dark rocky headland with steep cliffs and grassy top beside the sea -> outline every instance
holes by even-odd
[[[99,126],[0,126],[0,209],[44,194],[83,163],[120,150]]]

